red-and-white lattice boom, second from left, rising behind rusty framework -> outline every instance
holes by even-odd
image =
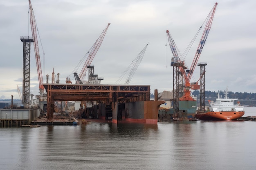
[[[83,68],[79,74],[79,78],[81,79],[81,81],[83,81],[83,79],[85,77],[85,73],[88,69],[87,66],[90,66],[94,56],[96,55],[97,51],[99,50],[99,47],[101,46],[101,43],[103,41],[103,38],[105,37],[105,34],[108,30],[109,25],[110,25],[110,23],[108,23],[107,27],[103,30],[103,32],[101,33],[101,35],[99,36],[99,38],[96,40],[96,42],[93,45],[92,50],[91,50],[90,54],[88,55],[88,57],[85,61],[85,64],[83,65]]]

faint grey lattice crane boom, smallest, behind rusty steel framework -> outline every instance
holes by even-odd
[[[149,43],[149,42],[148,42]],[[147,49],[147,46],[148,44],[146,44],[146,46],[144,47],[144,49],[141,50],[141,52],[137,55],[137,57],[132,61],[132,63],[128,66],[128,68],[126,68],[126,70],[124,71],[124,73],[119,77],[119,79],[117,79],[117,82],[115,84],[118,84],[121,79],[124,77],[124,75],[126,75],[127,71],[130,69],[130,73],[128,74],[128,77],[126,78],[126,81],[124,84],[129,84],[134,73],[136,72],[139,64],[141,63],[143,57],[144,57],[144,54],[145,54],[145,51]]]

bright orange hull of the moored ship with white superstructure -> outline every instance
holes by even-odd
[[[222,120],[234,120],[242,117],[245,112],[234,112],[234,111],[224,111],[224,112],[207,112],[205,116],[214,117]]]

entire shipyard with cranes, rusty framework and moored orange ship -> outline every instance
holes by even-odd
[[[17,108],[14,109],[12,101],[9,106],[8,104],[5,106],[6,109],[0,110],[1,126],[23,126],[25,124],[72,125],[80,124],[77,119],[89,118],[111,121],[115,124],[118,121],[157,124],[159,121],[197,120],[202,119],[205,115],[208,115],[207,120],[211,120],[211,118],[212,120],[222,119],[222,112],[225,113],[225,115],[223,114],[223,119],[236,120],[242,117],[244,110],[243,106],[240,105],[240,110],[234,110],[234,106],[231,105],[229,106],[230,110],[219,108],[221,116],[218,116],[218,118],[209,116],[212,114],[216,115],[216,110],[211,109],[210,113],[205,108],[205,67],[207,63],[198,63],[198,60],[210,32],[217,5],[218,3],[216,2],[207,16],[208,19],[205,22],[202,37],[190,68],[186,65],[180,51],[178,51],[170,31],[166,31],[166,39],[168,39],[168,44],[173,54],[171,58],[171,67],[173,67],[173,91],[159,93],[155,89],[154,99],[150,99],[150,85],[130,85],[131,79],[146,53],[149,42],[137,57],[135,57],[126,71],[117,79],[115,84],[101,84],[104,78],[94,73],[92,61],[103,43],[110,23],[107,24],[106,28],[99,35],[99,38],[84,56],[83,59],[85,62],[79,63],[79,65],[82,65],[80,73],[78,74],[77,71],[73,72],[72,76],[75,79],[73,82],[72,77],[67,76],[65,84],[60,83],[60,73],[56,74],[53,68],[52,77],[47,74],[46,82],[44,83],[38,46],[38,39],[40,37],[37,37],[34,10],[29,0],[32,37],[20,36],[20,40],[23,43],[22,93],[17,85],[20,101],[22,102],[22,107],[26,110],[26,114],[23,114],[22,108],[18,110]],[[39,82],[39,95],[36,95],[34,102],[33,95],[30,93],[30,47],[32,44],[34,46]],[[200,75],[198,76],[200,78],[197,82],[191,82],[196,66],[200,67]],[[126,81],[124,85],[120,85],[126,72],[129,73],[128,76],[126,75]],[[88,74],[88,79],[85,79],[86,74]],[[191,90],[199,90],[199,104],[197,97],[192,94]],[[228,99],[227,93],[228,89],[226,90],[226,99]],[[74,109],[70,111],[68,102],[72,101],[74,103]],[[229,114],[226,115],[227,112],[225,111],[229,111]],[[21,113],[22,116],[20,116]],[[236,114],[236,116],[232,117],[230,114]],[[62,119],[62,121],[59,119]]]

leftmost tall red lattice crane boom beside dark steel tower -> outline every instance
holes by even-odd
[[[29,11],[30,11],[30,25],[31,25],[31,32],[34,40],[34,51],[36,55],[36,68],[37,68],[37,74],[38,74],[38,81],[39,81],[39,93],[40,96],[43,96],[44,92],[44,86],[43,86],[43,75],[42,75],[42,68],[41,68],[41,62],[40,62],[40,55],[39,55],[39,47],[38,47],[38,41],[37,41],[37,35],[36,35],[36,19],[34,15],[34,10],[31,5],[31,1],[29,0]]]

